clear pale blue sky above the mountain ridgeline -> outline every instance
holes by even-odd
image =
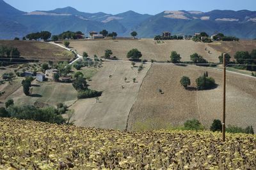
[[[157,14],[164,10],[256,10],[256,0],[4,0],[22,11],[53,10],[72,6],[79,11],[111,14],[132,10]]]

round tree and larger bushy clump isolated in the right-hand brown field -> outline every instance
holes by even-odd
[[[190,78],[188,76],[182,76],[180,78],[180,84],[187,89],[191,85]],[[196,89],[197,90],[207,90],[216,87],[214,78],[208,76],[208,72],[204,73],[203,76],[196,78]]]

